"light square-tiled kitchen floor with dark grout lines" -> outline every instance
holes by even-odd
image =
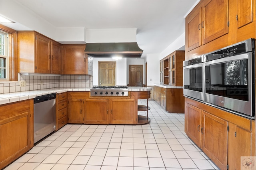
[[[68,124],[5,170],[218,169],[185,134],[184,114],[167,113],[155,101],[148,105],[148,125]]]

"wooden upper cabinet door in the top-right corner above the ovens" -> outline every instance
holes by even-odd
[[[253,22],[253,1],[237,0],[237,28]]]

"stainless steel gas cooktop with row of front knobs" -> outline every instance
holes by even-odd
[[[91,96],[128,96],[128,86],[92,87]]]

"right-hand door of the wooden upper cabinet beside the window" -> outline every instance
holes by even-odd
[[[61,53],[60,53],[60,43],[51,42],[51,73],[61,74]]]

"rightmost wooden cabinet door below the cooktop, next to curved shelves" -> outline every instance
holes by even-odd
[[[110,101],[110,124],[136,124],[135,102],[135,99],[112,99]]]

